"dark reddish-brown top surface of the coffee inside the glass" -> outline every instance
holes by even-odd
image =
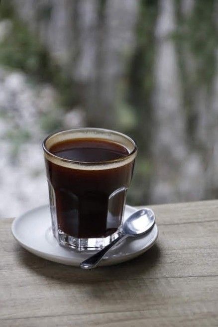
[[[56,156],[79,162],[104,162],[128,155],[128,150],[117,143],[95,138],[81,138],[56,143],[50,149]]]

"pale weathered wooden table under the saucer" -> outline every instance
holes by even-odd
[[[20,247],[0,220],[0,327],[218,326],[218,201],[152,206],[156,244],[81,270]]]

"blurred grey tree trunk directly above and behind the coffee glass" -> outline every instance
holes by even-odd
[[[99,14],[94,79],[86,89],[91,125],[119,128],[115,108],[117,85],[134,48],[137,2],[109,0]]]

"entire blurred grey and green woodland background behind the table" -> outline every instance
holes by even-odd
[[[138,143],[128,204],[218,198],[218,1],[1,0],[0,217],[48,202],[41,142],[80,126]]]

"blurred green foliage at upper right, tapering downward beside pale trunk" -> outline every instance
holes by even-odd
[[[177,29],[172,38],[178,49],[184,109],[187,115],[187,132],[190,146],[193,147],[197,146],[195,140],[198,121],[198,108],[195,107],[196,94],[203,88],[210,95],[217,73],[216,1],[195,1],[191,14],[187,16],[184,16],[180,10],[181,0],[175,2],[177,4]],[[191,70],[187,65],[190,57],[192,60]]]

